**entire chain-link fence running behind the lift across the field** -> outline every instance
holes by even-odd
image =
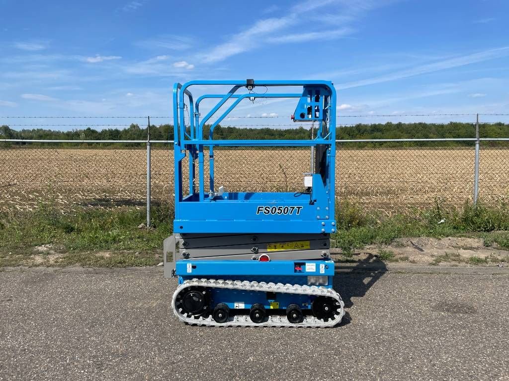
[[[472,200],[474,142],[463,147],[443,147],[440,141],[411,147],[405,146],[407,143],[366,148],[365,141],[339,142],[336,196],[364,208],[387,212],[427,207],[435,200],[449,205]],[[41,147],[26,142],[0,144],[0,210],[33,209],[43,202],[63,209],[145,207],[147,151],[143,146],[107,149],[76,144],[75,147],[55,144]],[[479,197],[489,203],[509,197],[509,147],[493,144],[481,141],[479,155]],[[223,185],[229,192],[298,192],[303,189],[302,174],[309,172],[309,162],[309,149],[303,148],[216,149],[215,185],[216,188]],[[173,169],[171,145],[152,142],[150,173],[154,203],[172,202]],[[207,162],[205,179],[208,176]],[[188,184],[188,175],[184,177],[183,183]]]

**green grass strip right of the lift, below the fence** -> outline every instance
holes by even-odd
[[[344,253],[352,253],[369,244],[388,245],[400,237],[454,237],[478,236],[489,245],[509,248],[509,206],[500,204],[477,207],[465,204],[461,208],[434,208],[410,210],[384,216],[377,212],[364,212],[357,205],[344,202],[337,208],[337,233],[332,244]],[[439,221],[445,220],[439,224]]]

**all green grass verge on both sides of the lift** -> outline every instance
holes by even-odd
[[[160,262],[162,241],[172,233],[172,219],[173,209],[167,205],[152,209],[153,228],[149,230],[138,229],[146,221],[146,212],[134,207],[62,213],[41,206],[32,212],[0,213],[0,266],[24,264],[34,255],[44,259],[46,254],[34,248],[45,244],[50,244],[52,252],[58,255],[53,263],[62,266],[153,265]],[[506,204],[496,207],[465,204],[447,209],[436,203],[430,209],[387,216],[342,203],[336,219],[338,231],[332,235],[331,244],[342,249],[347,261],[354,250],[370,244],[379,245],[381,260],[394,260],[394,253],[381,247],[400,237],[474,236],[484,238],[486,246],[509,249]],[[445,223],[439,224],[442,219]],[[486,259],[472,259],[471,263],[480,260]],[[446,253],[435,258],[433,264],[440,262],[457,261]]]

